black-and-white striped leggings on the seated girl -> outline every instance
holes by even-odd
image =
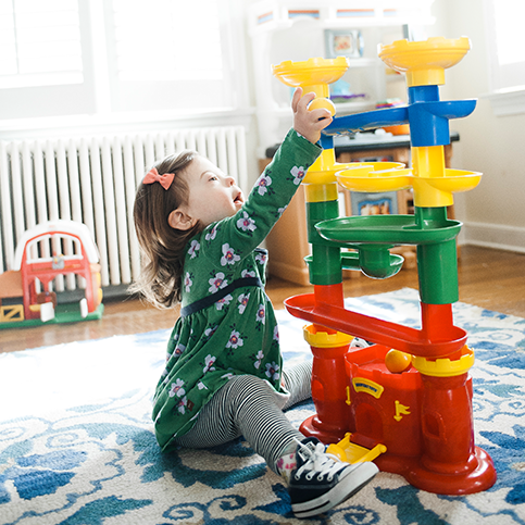
[[[250,447],[266,460],[268,467],[277,473],[277,460],[293,452],[297,447],[295,438],[304,438],[283,410],[311,397],[312,363],[301,363],[283,371],[283,378],[290,392],[283,409],[265,380],[252,375],[232,378],[202,408],[193,427],[175,442],[199,449],[224,445],[243,436]]]

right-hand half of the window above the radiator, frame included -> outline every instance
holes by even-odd
[[[234,105],[224,0],[113,0],[105,10],[116,111]],[[110,2],[108,2],[110,4]],[[224,16],[224,14],[223,14]]]

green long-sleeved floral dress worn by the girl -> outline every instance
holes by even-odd
[[[187,245],[180,317],[154,395],[163,450],[193,426],[202,407],[235,375],[255,375],[284,391],[277,322],[263,288],[266,252],[258,246],[320,153],[290,130],[242,208]]]

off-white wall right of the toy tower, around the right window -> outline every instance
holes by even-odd
[[[457,196],[457,215],[467,243],[525,252],[525,113],[497,116],[490,92],[489,49],[484,2],[435,0],[437,18],[428,36],[467,36],[472,50],[448,70],[441,99],[478,98],[472,115],[455,120],[453,167],[483,172],[474,190]],[[490,23],[490,21],[488,21]],[[516,35],[516,45],[518,36]]]

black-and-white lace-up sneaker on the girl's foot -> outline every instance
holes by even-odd
[[[296,451],[288,492],[296,517],[329,511],[361,490],[379,472],[372,462],[346,463],[327,454],[316,438],[305,438]]]

